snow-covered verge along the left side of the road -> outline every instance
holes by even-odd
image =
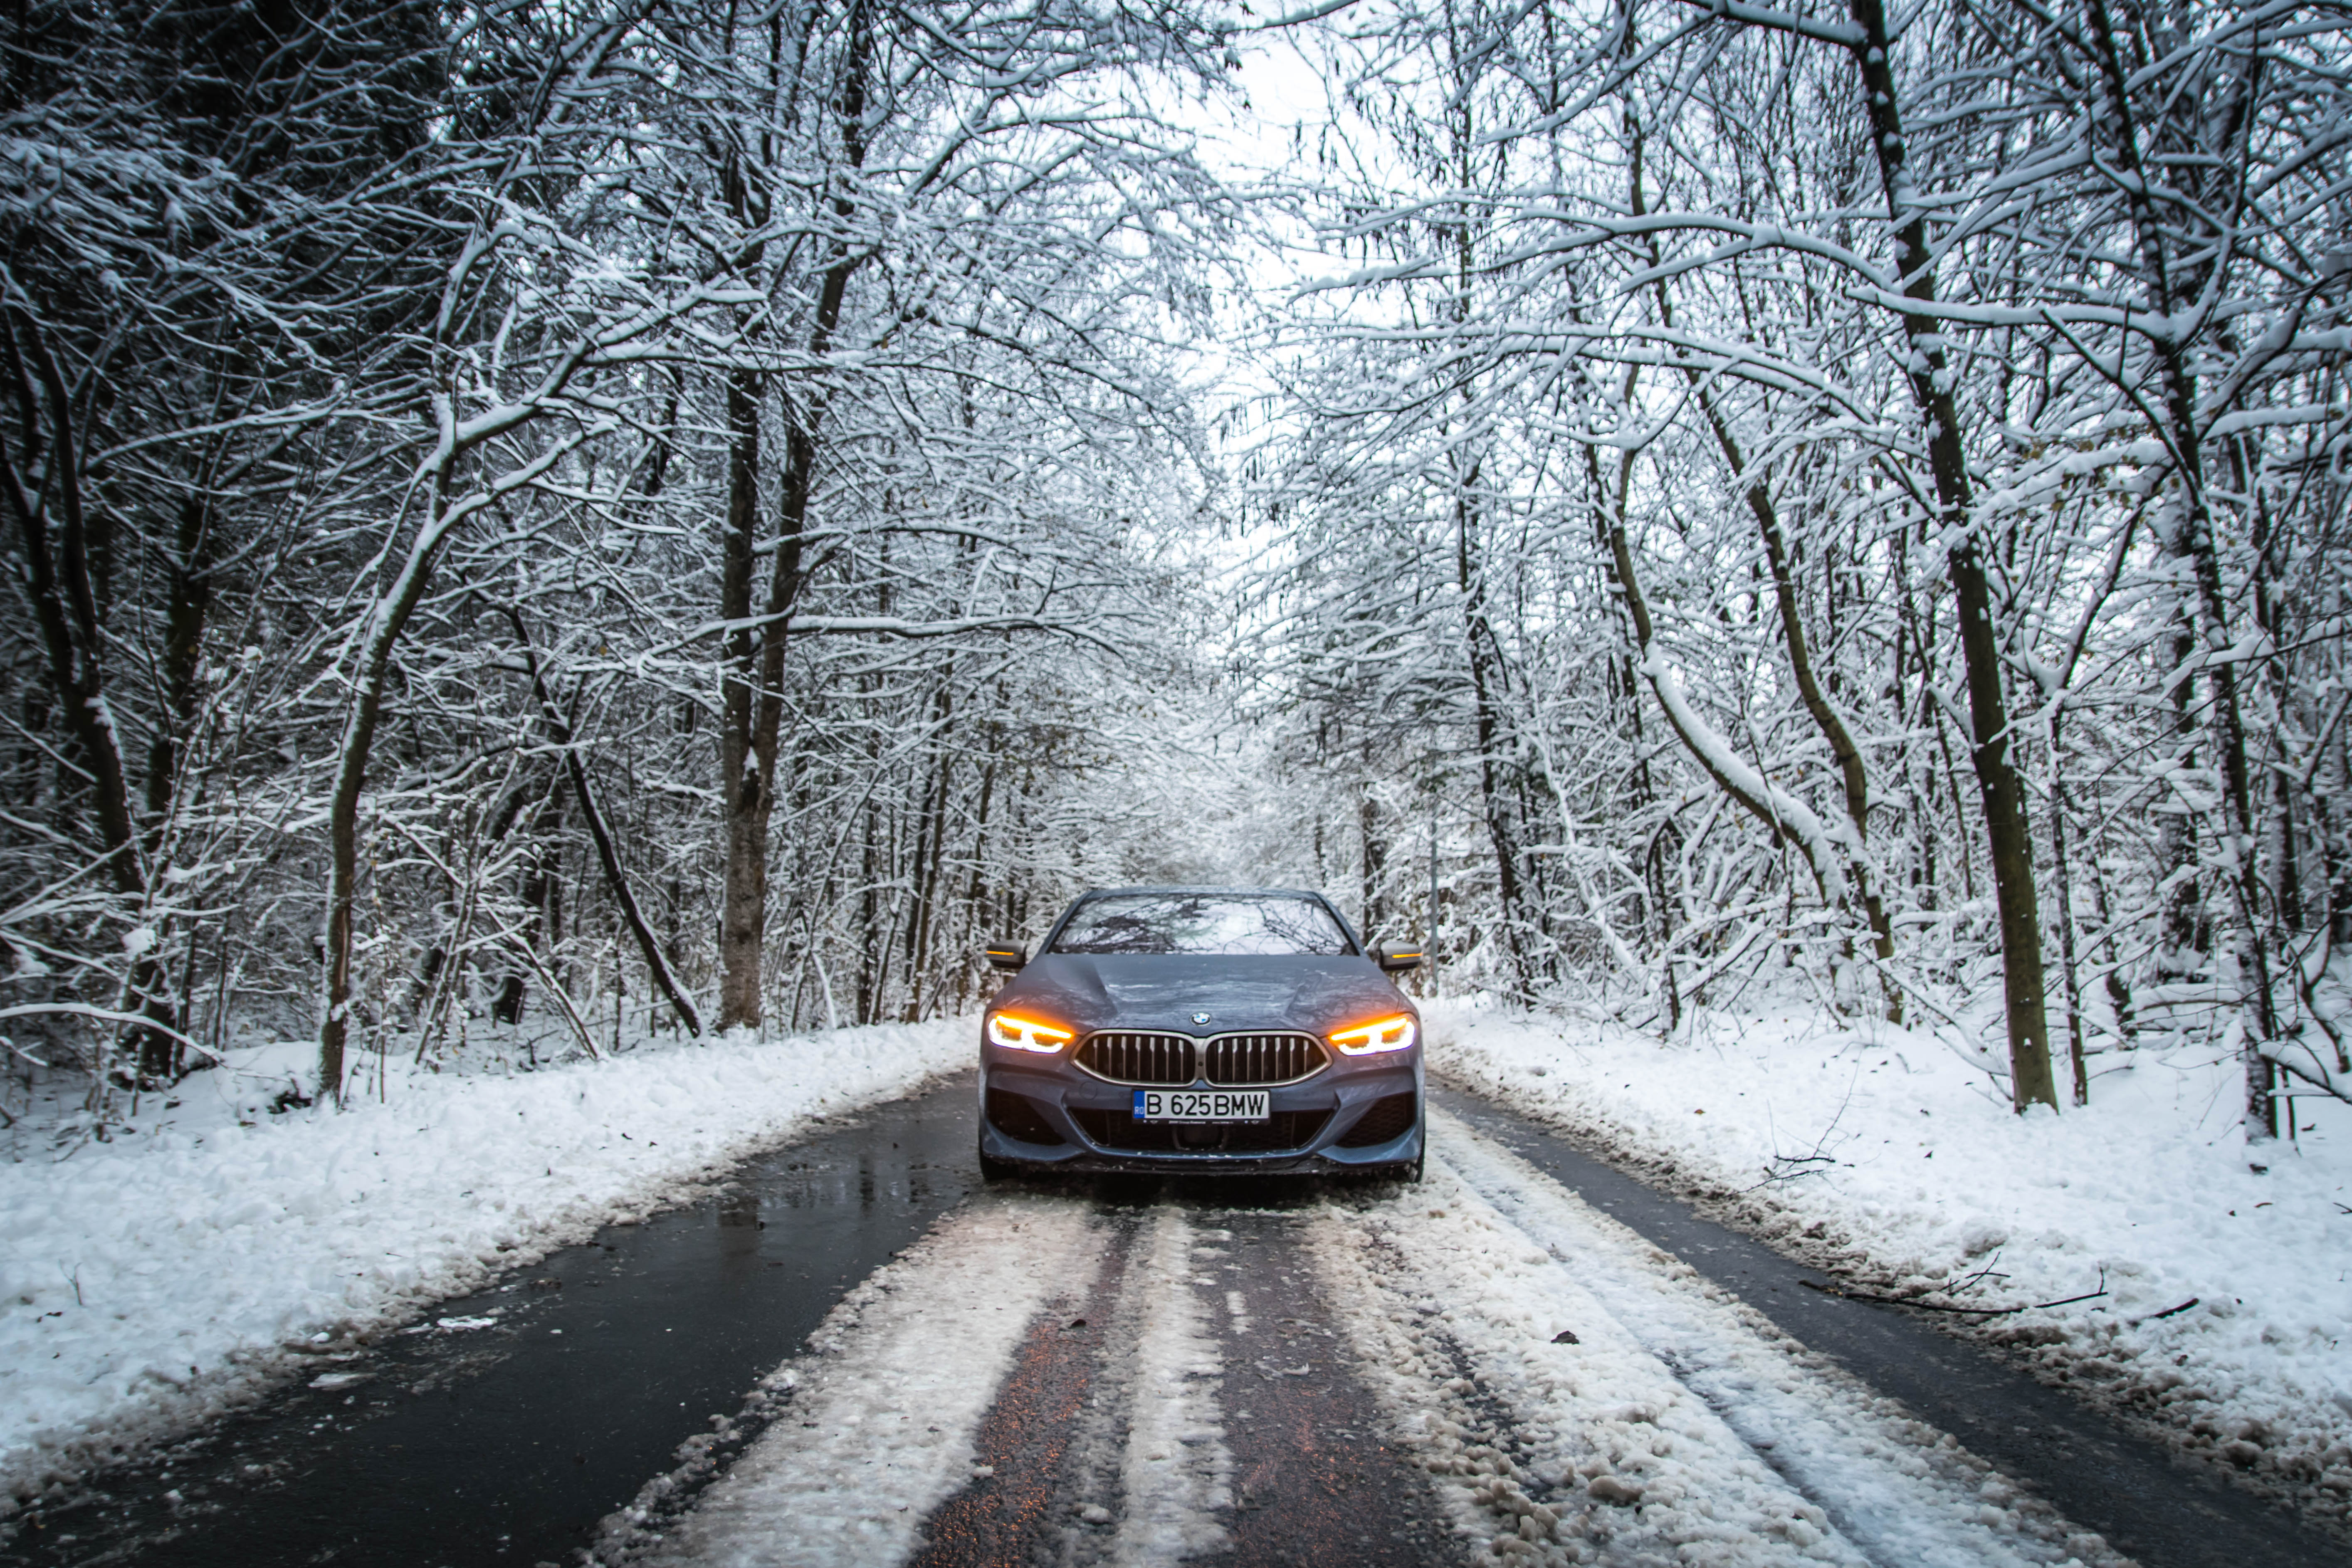
[[[238,1051],[108,1143],[28,1117],[0,1159],[0,1512],[202,1420],[303,1352],[689,1197],[971,1058],[971,1023],[640,1041],[515,1074],[400,1072],[270,1114],[308,1044]],[[369,1081],[369,1091],[376,1084]],[[332,1375],[332,1373],[320,1373]]]

